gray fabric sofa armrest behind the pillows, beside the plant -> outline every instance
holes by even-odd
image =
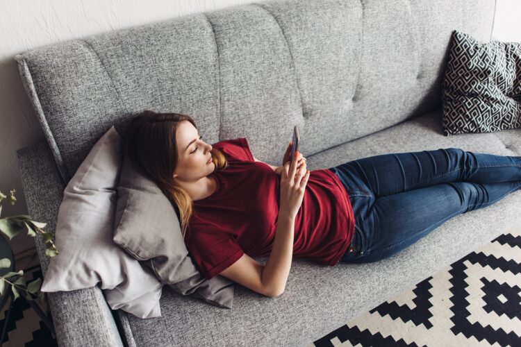
[[[17,160],[28,212],[35,221],[47,223],[54,232],[63,200],[63,182],[47,142],[19,149]],[[35,237],[45,276],[49,260],[42,235]],[[58,249],[58,252],[60,250]],[[59,346],[123,346],[113,312],[99,286],[47,293]]]

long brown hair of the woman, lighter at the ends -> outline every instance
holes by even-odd
[[[188,192],[172,177],[176,169],[176,130],[181,121],[190,121],[197,129],[194,119],[180,113],[159,113],[144,110],[135,116],[125,133],[124,151],[129,155],[133,167],[153,180],[176,210],[181,232],[185,237],[193,202]],[[210,151],[215,170],[226,169],[228,163],[221,151]]]

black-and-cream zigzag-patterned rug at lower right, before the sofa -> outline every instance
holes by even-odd
[[[306,347],[313,346],[521,346],[521,228]]]

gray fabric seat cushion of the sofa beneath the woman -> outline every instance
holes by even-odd
[[[511,150],[521,144],[521,129],[513,131],[511,139],[516,134],[518,139],[509,149],[497,137],[502,132],[445,137],[437,110],[306,158],[310,169],[318,169],[369,155],[440,147],[521,155]],[[141,320],[124,312],[119,317],[137,346],[306,346],[519,223],[520,205],[521,192],[513,192],[494,205],[450,219],[380,262],[322,266],[294,257],[286,291],[276,298],[237,285],[233,309],[220,310],[166,288],[160,318]],[[267,257],[256,259],[265,263]]]

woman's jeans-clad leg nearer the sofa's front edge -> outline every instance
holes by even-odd
[[[443,183],[376,198],[350,196],[356,216],[352,245],[342,262],[376,262],[438,228],[457,214],[486,207],[521,189],[521,180],[502,183]]]

